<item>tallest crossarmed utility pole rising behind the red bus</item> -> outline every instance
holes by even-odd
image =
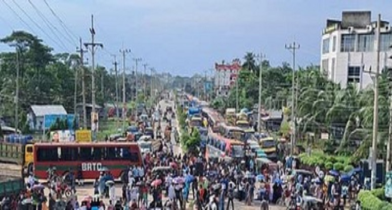
[[[91,121],[91,130],[93,133],[93,140],[97,140],[97,131],[98,131],[98,113],[95,111],[95,49],[97,46],[103,47],[102,43],[95,42],[95,29],[94,29],[94,15],[91,15],[91,43],[84,43],[84,46],[89,47],[91,46],[91,62],[92,62],[92,72],[91,72],[91,92],[92,92],[92,105],[93,109],[91,112],[92,121]],[[95,119],[97,118],[97,119]]]

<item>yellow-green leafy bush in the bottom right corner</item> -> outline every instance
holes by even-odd
[[[381,193],[380,190],[377,189],[376,192],[374,190],[368,191],[368,190],[361,190],[358,193],[358,200],[361,201],[361,207],[362,209],[366,210],[378,210],[378,209],[392,209],[392,204],[382,201],[377,197]]]

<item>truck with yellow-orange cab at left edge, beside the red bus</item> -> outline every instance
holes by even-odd
[[[0,163],[21,166],[24,173],[33,172],[33,142],[20,135],[6,136],[0,142]],[[0,168],[2,169],[2,168]]]

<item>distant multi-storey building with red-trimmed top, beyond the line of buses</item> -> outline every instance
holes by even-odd
[[[230,88],[235,85],[240,70],[241,63],[239,59],[234,59],[231,64],[215,63],[215,94],[227,96]]]

